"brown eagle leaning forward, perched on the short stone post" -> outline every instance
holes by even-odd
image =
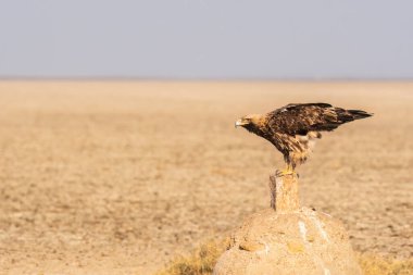
[[[267,114],[250,114],[238,120],[241,126],[272,142],[284,154],[286,170],[295,174],[298,164],[305,162],[320,132],[334,130],[341,124],[373,114],[361,110],[346,110],[327,103],[288,104]]]

